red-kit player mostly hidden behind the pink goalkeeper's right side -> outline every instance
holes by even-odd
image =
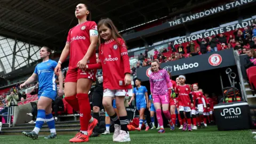
[[[172,83],[172,87],[175,91],[176,89],[176,82],[172,80],[172,75],[170,72],[168,72],[169,75],[170,75],[170,81]],[[171,89],[169,89],[169,95],[171,95],[172,91]],[[170,98],[170,102],[169,102],[169,105],[170,105],[170,112],[171,112],[171,118],[172,118],[172,123],[175,125],[175,122],[176,122],[176,114],[175,114],[175,109],[176,109],[176,105],[177,105],[177,98]]]

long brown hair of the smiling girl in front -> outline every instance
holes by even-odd
[[[117,41],[117,38],[122,38],[123,37],[118,33],[118,30],[116,28],[116,26],[114,25],[113,21],[110,20],[109,18],[102,18],[100,19],[100,21],[98,22],[98,30],[100,29],[101,26],[105,25],[106,27],[108,27],[109,29],[111,29],[111,36],[113,37],[113,39],[115,39],[115,41],[120,45],[120,43]],[[105,40],[103,38],[101,38],[101,36],[99,35],[99,43],[102,44],[105,42]],[[125,42],[125,41],[124,41]]]

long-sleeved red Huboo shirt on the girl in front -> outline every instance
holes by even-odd
[[[132,85],[125,85],[124,77],[126,73],[131,73],[129,56],[125,42],[122,38],[117,38],[100,44],[99,63],[88,65],[90,69],[102,67],[103,89],[127,90],[132,89]],[[94,68],[93,68],[94,67]]]

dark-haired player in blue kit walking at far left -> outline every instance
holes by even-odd
[[[31,132],[22,132],[26,137],[37,139],[38,133],[42,128],[44,121],[47,122],[47,125],[50,129],[51,134],[45,139],[57,138],[57,133],[55,129],[55,122],[52,116],[52,101],[57,97],[57,84],[55,79],[57,76],[54,74],[54,68],[57,66],[57,62],[50,60],[49,56],[51,50],[49,47],[43,46],[40,50],[40,57],[43,59],[43,62],[39,63],[34,73],[27,79],[26,82],[20,85],[20,88],[26,86],[37,80],[39,82],[38,90],[38,102],[37,102],[37,118],[36,125],[33,131]],[[63,95],[63,77],[60,71],[59,75],[59,96]]]

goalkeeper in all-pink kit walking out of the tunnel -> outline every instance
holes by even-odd
[[[163,108],[163,113],[166,119],[168,119],[171,130],[174,130],[174,124],[172,123],[171,114],[169,111],[170,95],[168,94],[168,88],[172,90],[172,97],[175,97],[175,93],[172,83],[170,81],[169,74],[165,69],[159,67],[159,62],[157,60],[153,60],[151,62],[151,71],[152,73],[149,77],[150,90],[151,94],[153,95],[153,102],[156,109],[157,121],[161,127],[158,133],[164,133],[165,130],[163,126],[161,106]]]

